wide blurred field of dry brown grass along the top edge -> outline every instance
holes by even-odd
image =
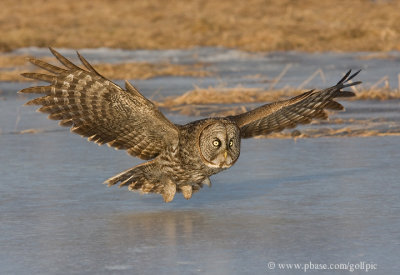
[[[399,10],[399,0],[2,0],[0,51],[27,46],[400,50]]]

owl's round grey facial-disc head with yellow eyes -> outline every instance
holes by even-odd
[[[240,154],[239,128],[229,120],[211,121],[200,132],[199,150],[208,167],[231,167]]]

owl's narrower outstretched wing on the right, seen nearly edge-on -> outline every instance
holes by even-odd
[[[298,124],[310,123],[313,118],[326,119],[324,109],[343,110],[336,97],[351,97],[353,92],[342,89],[360,84],[351,82],[360,71],[350,75],[351,70],[333,87],[321,91],[308,91],[288,100],[278,101],[260,106],[249,112],[230,116],[241,130],[242,138],[266,135],[279,132],[285,128],[293,128]]]

